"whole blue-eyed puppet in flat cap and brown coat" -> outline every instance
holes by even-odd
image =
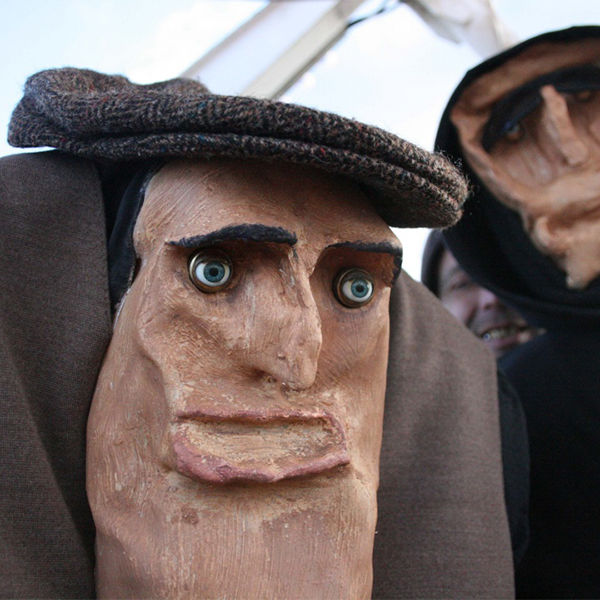
[[[9,137],[58,152],[2,161],[1,597],[512,597],[494,361],[386,226],[460,216],[447,161],[76,69]]]

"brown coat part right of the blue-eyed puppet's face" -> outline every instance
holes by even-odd
[[[390,312],[373,598],[513,598],[495,361],[405,273]]]

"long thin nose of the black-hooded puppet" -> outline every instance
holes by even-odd
[[[542,127],[550,143],[569,166],[581,164],[588,158],[589,151],[573,124],[567,100],[551,85],[543,86],[540,94],[544,105]]]

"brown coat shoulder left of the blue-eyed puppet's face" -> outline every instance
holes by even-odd
[[[94,595],[85,426],[110,338],[92,163],[0,161],[0,598]]]

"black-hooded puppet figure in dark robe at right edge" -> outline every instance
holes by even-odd
[[[467,73],[436,140],[476,190],[452,253],[546,330],[500,361],[530,439],[518,598],[600,595],[599,62],[599,27],[523,42]]]

